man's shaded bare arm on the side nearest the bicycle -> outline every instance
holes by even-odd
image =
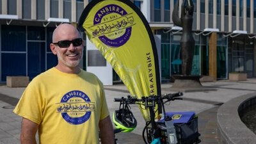
[[[109,116],[107,116],[103,120],[100,120],[99,128],[100,128],[100,141],[102,144],[115,143],[113,126]]]

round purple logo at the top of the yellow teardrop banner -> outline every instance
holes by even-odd
[[[109,47],[120,47],[130,38],[134,17],[116,4],[108,4],[95,14],[92,36]]]

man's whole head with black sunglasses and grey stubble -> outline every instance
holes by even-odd
[[[60,24],[52,34],[50,45],[53,54],[58,56],[58,67],[65,72],[67,69],[77,70],[83,57],[83,40],[77,29],[71,24]]]

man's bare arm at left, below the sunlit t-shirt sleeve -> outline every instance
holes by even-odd
[[[21,144],[36,144],[36,131],[38,129],[38,124],[22,118],[21,132],[20,132],[20,143]]]

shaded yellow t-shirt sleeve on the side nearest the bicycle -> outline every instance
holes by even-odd
[[[100,94],[101,94],[101,102],[102,102],[100,120],[102,120],[109,115],[109,110],[108,110],[108,104],[106,102],[103,84],[101,82],[100,82]]]

